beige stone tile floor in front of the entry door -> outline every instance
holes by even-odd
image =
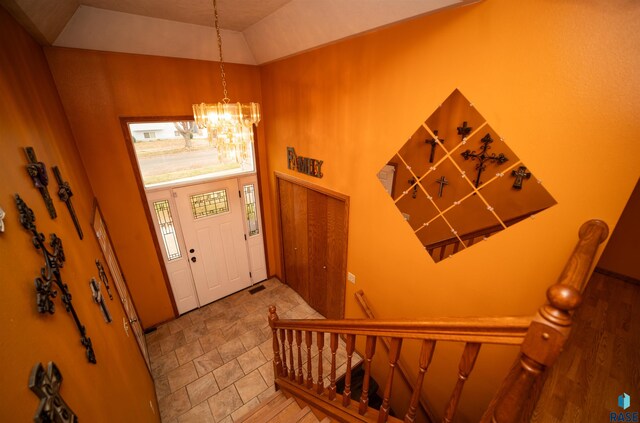
[[[231,423],[275,392],[269,306],[281,319],[324,317],[277,279],[259,285],[265,289],[245,289],[146,335],[163,423]],[[331,368],[327,356],[324,369]],[[342,341],[336,362],[338,376],[344,374]]]

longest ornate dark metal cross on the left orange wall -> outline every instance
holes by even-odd
[[[64,265],[65,256],[62,248],[62,240],[56,236],[56,234],[50,235],[49,246],[51,251],[45,245],[45,236],[43,233],[38,232],[35,225],[35,215],[27,204],[20,198],[18,194],[15,195],[16,206],[18,207],[18,213],[20,214],[20,224],[23,228],[31,232],[33,238],[33,245],[36,250],[41,250],[44,257],[44,267],[40,269],[40,277],[35,279],[36,285],[36,305],[39,313],[53,314],[55,312],[55,304],[53,298],[58,295],[57,288],[61,292],[62,303],[65,310],[71,313],[73,321],[80,332],[80,342],[86,349],[87,360],[90,363],[96,363],[96,356],[93,352],[93,346],[91,344],[91,338],[87,336],[86,329],[80,322],[78,314],[76,313],[73,303],[71,302],[71,292],[69,287],[62,281],[60,275],[60,269]]]

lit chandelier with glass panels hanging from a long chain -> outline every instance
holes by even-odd
[[[211,137],[215,133],[215,145],[218,155],[234,155],[237,161],[244,161],[248,156],[248,146],[253,139],[253,125],[260,122],[260,105],[258,103],[231,103],[227,94],[227,80],[222,58],[222,37],[218,22],[218,7],[213,0],[215,28],[220,54],[220,77],[224,98],[218,103],[200,103],[193,105],[193,117],[199,128],[206,128]],[[211,138],[210,138],[211,139]]]

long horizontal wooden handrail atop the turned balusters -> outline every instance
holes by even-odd
[[[429,320],[277,320],[274,328],[345,335],[520,345],[531,317],[439,317]]]

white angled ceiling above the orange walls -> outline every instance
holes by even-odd
[[[217,0],[226,62],[262,64],[479,0]],[[218,60],[212,0],[0,0],[44,45]]]

